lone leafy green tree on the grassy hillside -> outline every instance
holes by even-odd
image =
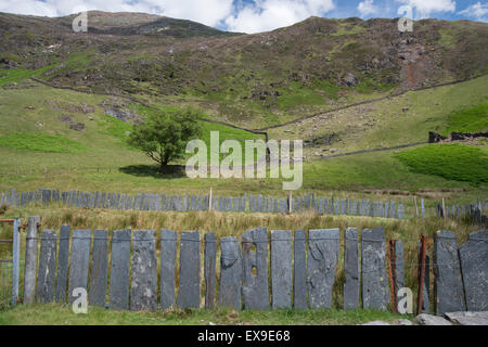
[[[193,110],[158,112],[134,126],[128,142],[156,162],[163,174],[169,162],[183,156],[188,141],[201,131],[198,113]]]

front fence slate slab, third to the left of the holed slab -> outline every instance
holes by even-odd
[[[177,305],[200,307],[200,232],[185,231],[180,240],[180,285]]]

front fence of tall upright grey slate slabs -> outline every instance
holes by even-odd
[[[157,239],[160,241],[159,283]],[[345,246],[344,259],[339,259],[341,239]],[[241,240],[236,236],[217,240],[215,233],[206,233],[202,240],[197,231],[162,230],[156,237],[152,230],[117,230],[108,237],[107,231],[70,233],[69,227],[64,226],[60,237],[55,231],[44,230],[39,240],[38,274],[26,272],[24,281],[27,286],[37,283],[36,299],[41,303],[70,303],[72,291],[84,287],[88,291],[89,305],[117,310],[216,306],[236,310],[332,308],[342,260],[344,309],[387,310],[391,300],[391,278],[387,275],[390,259],[383,228],[361,233],[349,228],[344,234],[339,229],[268,233],[265,228],[257,228],[245,232]],[[176,266],[178,247],[179,267]],[[217,275],[218,249],[220,275]],[[397,288],[403,286],[402,249],[401,241],[397,241],[396,260],[391,265],[396,269]],[[36,252],[37,248],[26,253],[26,259],[37,259]],[[434,261],[429,264],[426,258],[426,262],[424,311],[431,310],[431,293],[434,293],[437,313],[488,310],[487,232],[472,233],[459,249],[454,233],[439,232],[435,236]],[[428,266],[434,270],[433,291]],[[24,303],[33,301],[31,297],[24,296]]]

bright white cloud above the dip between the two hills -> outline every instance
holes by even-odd
[[[224,23],[232,31],[260,33],[295,24],[311,15],[323,15],[333,9],[333,0],[255,0],[239,7]]]

